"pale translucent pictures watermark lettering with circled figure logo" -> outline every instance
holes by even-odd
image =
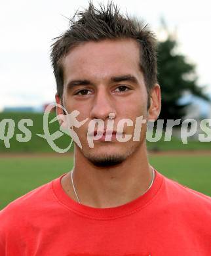
[[[52,120],[49,120],[50,112],[55,108],[63,110],[63,114],[58,114]],[[60,104],[49,104],[45,109],[43,114],[43,134],[37,133],[36,135],[47,140],[50,147],[58,152],[65,153],[70,148],[73,142],[79,148],[82,148],[79,136],[75,132],[74,128],[80,128],[85,125],[88,121],[88,117],[82,121],[78,121],[80,113],[78,110],[73,110],[68,113],[66,108]],[[58,131],[50,134],[48,125],[59,121],[60,128]],[[146,140],[149,142],[158,142],[164,137],[164,141],[172,140],[173,127],[180,125],[180,137],[183,144],[187,144],[187,139],[193,136],[198,136],[200,142],[210,142],[211,141],[211,119],[202,119],[200,124],[198,124],[195,119],[168,119],[166,122],[166,127],[164,129],[164,120],[158,119],[157,125],[155,127],[155,120],[146,120],[143,116],[136,117],[134,121],[132,119],[120,119],[115,123],[115,113],[110,113],[108,119],[105,121],[102,119],[91,119],[86,123],[86,139],[88,146],[94,148],[94,142],[96,140],[101,140],[103,142],[111,142],[113,139],[118,142],[128,142],[132,140],[134,142],[140,141],[142,125],[147,127]],[[31,140],[31,131],[28,127],[33,126],[33,120],[31,119],[21,119],[18,121],[18,129],[15,129],[16,123],[12,119],[3,119],[0,121],[0,140],[3,140],[5,147],[10,148],[10,139],[14,137],[15,131],[20,131],[16,134],[16,140],[18,142],[28,142]],[[125,127],[134,127],[133,134],[125,134]],[[84,130],[85,131],[85,130]],[[201,133],[201,131],[203,133]],[[68,135],[70,137],[69,145],[66,148],[60,148],[56,145],[55,140],[59,139],[63,135]]]

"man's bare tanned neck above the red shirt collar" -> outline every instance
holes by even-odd
[[[128,203],[145,193],[152,177],[153,168],[148,163],[145,147],[112,167],[96,167],[75,150],[73,182],[84,205],[107,208]],[[73,200],[78,201],[70,173],[62,180],[62,186]]]

